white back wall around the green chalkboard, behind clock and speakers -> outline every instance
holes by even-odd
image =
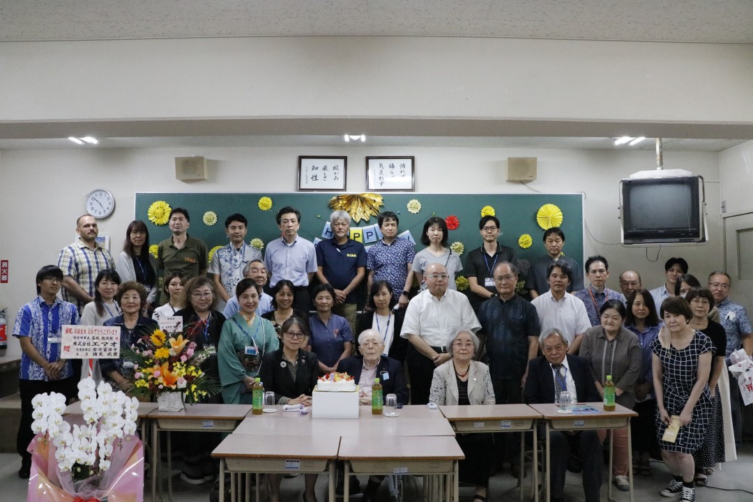
[[[174,157],[203,155],[214,166],[209,180],[186,184],[175,180]],[[64,245],[72,242],[75,219],[84,210],[84,197],[94,188],[114,194],[114,214],[99,224],[100,233],[113,236],[111,249],[133,219],[134,193],[160,192],[292,192],[298,155],[349,155],[348,191],[365,188],[367,155],[415,155],[416,191],[425,193],[544,193],[584,192],[586,223],[593,236],[584,239],[584,253],[604,254],[617,275],[633,268],[646,287],[663,281],[663,263],[671,256],[685,257],[691,272],[703,276],[721,265],[721,224],[718,199],[717,154],[671,152],[666,169],[688,169],[706,178],[712,243],[663,249],[658,261],[645,248],[623,248],[619,242],[618,183],[633,172],[652,169],[654,154],[639,151],[578,151],[502,148],[200,148],[200,149],[87,149],[3,151],[0,163],[0,257],[11,261],[11,281],[0,284],[0,303],[11,318],[35,295],[37,270],[56,263]],[[538,157],[538,181],[527,186],[505,181],[502,161],[507,157]],[[144,214],[136,215],[145,219]],[[512,218],[514,215],[501,215]],[[273,216],[270,214],[270,218]],[[512,238],[511,238],[512,239]],[[505,240],[503,236],[502,240]],[[513,245],[512,242],[508,244]],[[541,245],[535,243],[535,245]],[[648,257],[656,260],[657,249]],[[11,342],[9,354],[20,353]]]

